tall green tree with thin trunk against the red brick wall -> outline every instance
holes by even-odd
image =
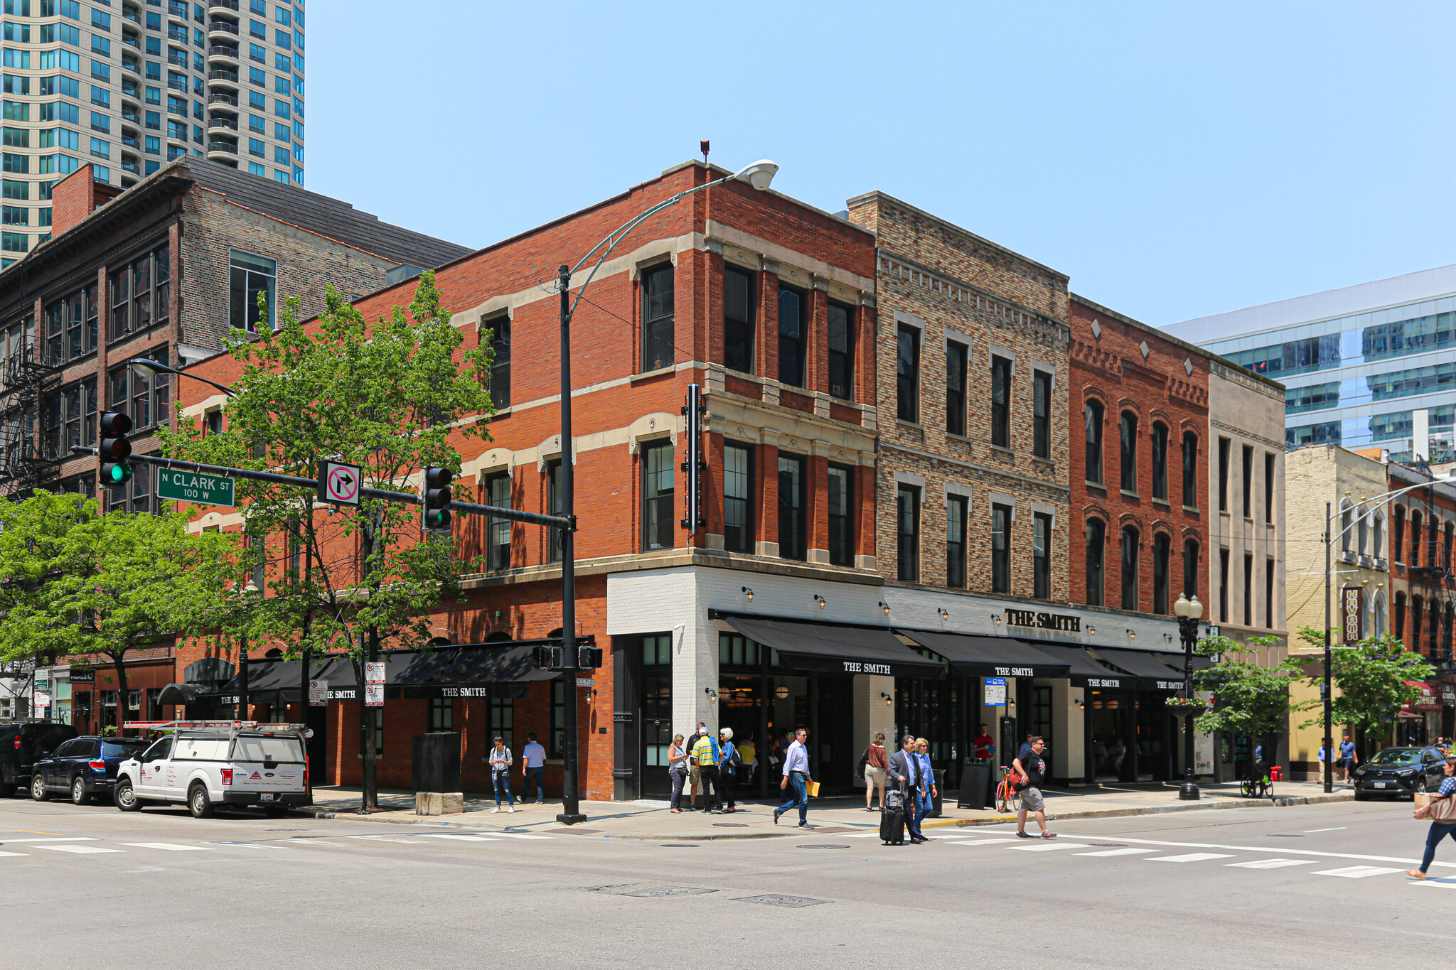
[[[179,412],[178,430],[163,435],[167,455],[309,478],[328,458],[360,465],[364,487],[415,494],[427,467],[459,473],[451,435],[489,439],[489,348],[462,349],[432,272],[408,311],[395,307],[374,324],[333,288],[317,320],[304,327],[298,316],[290,298],[277,330],[233,334],[227,352],[243,374],[226,429],[205,435]],[[234,599],[223,636],[246,633],[304,663],[347,650],[363,701],[363,662],[379,657],[381,641],[430,641],[430,611],[460,574],[454,544],[424,535],[421,510],[397,502],[325,513],[296,486],[240,478],[236,492],[245,573],[266,595]],[[361,708],[365,809],[379,807],[373,714]]]

